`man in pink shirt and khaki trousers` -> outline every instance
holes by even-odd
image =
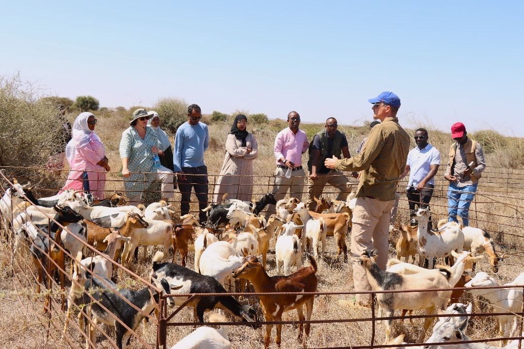
[[[308,150],[308,136],[304,131],[299,130],[300,115],[296,111],[288,114],[288,128],[278,132],[275,139],[275,158],[277,169],[275,171],[275,182],[272,193],[275,200],[283,199],[289,189],[291,197],[302,199],[304,191],[305,173],[302,169],[302,154]],[[286,178],[288,168],[291,169],[291,176]],[[267,216],[275,212],[275,206],[268,208]]]

